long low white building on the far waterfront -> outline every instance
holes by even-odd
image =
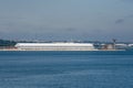
[[[18,43],[19,51],[94,51],[90,43]]]

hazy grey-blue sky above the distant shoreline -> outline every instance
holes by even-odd
[[[133,0],[0,0],[0,38],[133,42]]]

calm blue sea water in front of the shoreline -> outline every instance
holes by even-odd
[[[0,52],[0,88],[133,88],[133,52]]]

